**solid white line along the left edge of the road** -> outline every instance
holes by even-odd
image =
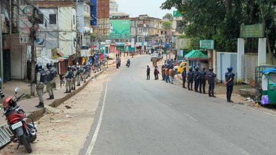
[[[92,140],[90,142],[90,145],[87,149],[86,155],[91,155],[92,154],[94,145],[97,141],[97,136],[99,134],[99,127],[101,127],[101,121],[103,120],[103,110],[104,110],[104,107],[106,105],[106,94],[107,94],[107,92],[108,92],[108,79],[106,80],[106,92],[105,92],[104,97],[103,97],[103,106],[101,107],[101,114],[99,115],[99,121],[98,121],[96,130],[94,132],[94,135],[92,137]]]

